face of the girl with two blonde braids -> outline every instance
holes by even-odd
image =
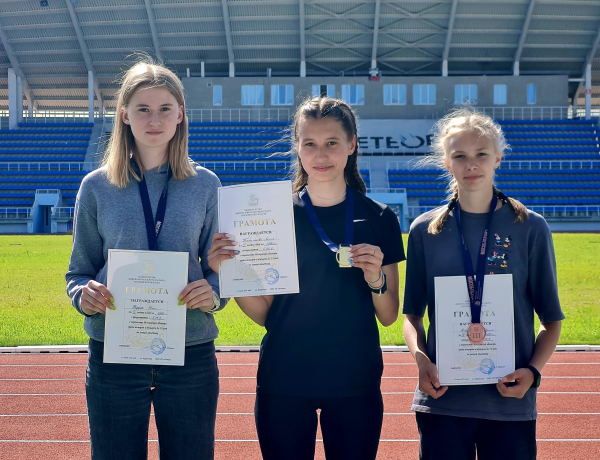
[[[463,192],[491,189],[501,159],[494,141],[473,130],[455,134],[446,142],[444,163]]]

